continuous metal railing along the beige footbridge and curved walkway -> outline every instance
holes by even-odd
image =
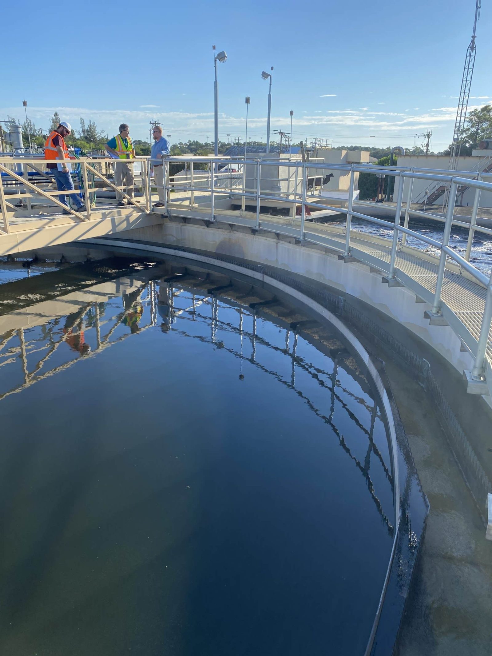
[[[144,190],[144,195],[145,195],[145,208],[142,208],[142,206],[138,205],[138,203],[134,204],[137,205],[137,207],[140,207],[141,210],[145,209],[147,212],[152,212],[152,195],[151,195],[151,186],[150,186],[150,159],[148,157],[137,157],[133,160],[131,160],[133,163],[140,163],[142,166],[142,188]],[[184,184],[176,184],[176,182],[171,182],[171,178],[173,176],[169,175],[169,166],[171,163],[190,163],[190,181],[188,181],[188,178],[184,181]],[[346,227],[345,227],[345,245],[342,247],[340,245],[340,251],[346,256],[350,255],[350,227],[351,227],[351,221],[352,221],[352,216],[355,218],[361,218],[362,220],[371,222],[373,224],[377,224],[380,226],[384,226],[388,230],[393,231],[393,238],[392,238],[392,247],[391,247],[391,258],[390,258],[390,266],[389,266],[389,271],[388,271],[388,277],[394,278],[396,277],[396,257],[397,257],[397,251],[398,247],[400,245],[400,237],[401,237],[401,245],[405,245],[405,240],[407,236],[411,236],[414,239],[417,239],[417,241],[420,241],[422,243],[425,243],[426,245],[432,245],[436,249],[440,251],[440,263],[438,266],[438,276],[437,276],[437,282],[436,282],[436,293],[434,294],[434,302],[432,305],[432,312],[434,314],[440,314],[441,313],[441,308],[443,301],[441,299],[441,288],[442,288],[442,283],[443,283],[443,277],[444,277],[444,272],[445,272],[445,266],[446,266],[446,259],[449,256],[453,261],[457,262],[457,264],[461,267],[461,270],[466,272],[468,275],[472,276],[478,284],[484,285],[487,289],[488,284],[485,284],[485,278],[482,274],[482,272],[478,271],[474,266],[472,266],[469,263],[470,260],[470,255],[472,251],[472,242],[473,242],[473,235],[474,232],[479,230],[480,232],[484,232],[485,234],[489,234],[489,229],[487,228],[480,228],[476,225],[476,220],[477,220],[477,215],[478,215],[478,208],[480,205],[480,194],[483,192],[492,192],[492,182],[486,182],[483,179],[479,180],[470,180],[467,176],[472,176],[474,174],[473,171],[449,171],[448,170],[438,170],[438,171],[432,171],[428,169],[410,169],[408,167],[379,167],[379,166],[374,166],[374,165],[365,165],[365,164],[324,164],[324,163],[309,163],[309,162],[302,162],[302,161],[279,161],[279,160],[272,160],[272,159],[264,159],[264,158],[259,158],[259,157],[251,157],[248,159],[241,159],[237,161],[238,165],[242,165],[242,173],[239,173],[237,176],[237,180],[234,180],[234,186],[232,184],[232,176],[229,171],[226,172],[221,172],[218,173],[216,170],[218,167],[216,167],[217,163],[228,163],[230,164],[231,160],[228,157],[165,157],[163,159],[164,163],[164,168],[165,168],[165,179],[163,183],[163,188],[165,188],[165,211],[169,212],[169,205],[172,201],[172,195],[171,191],[182,191],[182,192],[190,192],[190,206],[195,207],[194,205],[194,194],[195,192],[201,192],[201,200],[203,201],[203,192],[205,194],[210,195],[210,220],[215,221],[216,220],[216,215],[215,215],[215,207],[217,207],[216,203],[218,202],[218,197],[221,199],[224,198],[224,196],[230,195],[231,198],[237,197],[237,199],[241,199],[241,211],[245,210],[245,199],[249,199],[251,204],[256,203],[256,220],[251,218],[251,222],[255,226],[255,228],[260,228],[261,226],[261,212],[260,212],[260,203],[262,202],[268,202],[268,203],[281,203],[285,207],[300,207],[300,229],[299,229],[299,237],[301,241],[305,238],[304,235],[304,224],[306,220],[306,209],[312,205],[316,205],[316,209],[319,211],[337,211],[340,214],[346,215]],[[97,174],[108,186],[112,189],[115,189],[119,191],[119,188],[115,186],[110,180],[108,180],[102,173],[98,173],[95,169],[93,169],[92,165],[95,164],[94,161],[91,159],[78,159],[77,163],[81,166],[81,173],[83,176],[87,177],[87,173],[95,173]],[[108,164],[114,164],[115,160],[112,158],[106,158],[106,159],[98,159],[97,163],[108,163]],[[28,180],[26,177],[23,177],[22,174],[19,174],[19,172],[14,173],[14,171],[9,170],[9,166],[11,165],[24,165],[24,166],[29,166],[30,164],[37,164],[39,165],[39,158],[33,158],[29,159],[27,157],[21,157],[21,158],[15,158],[15,157],[3,157],[0,158],[0,170],[5,171],[6,173],[9,173],[12,178],[14,178],[19,185],[24,186],[26,190],[30,191],[30,194],[14,194],[13,197],[28,197],[28,204],[30,203],[29,197],[33,195],[33,193],[41,194],[48,199],[50,199],[51,203],[54,205],[61,205],[61,203],[57,199],[57,195],[59,195],[59,192],[51,192],[49,190],[43,191],[39,187],[34,186]],[[194,165],[195,164],[206,164],[207,165],[207,171],[204,171],[203,174],[202,172],[197,173],[196,178],[200,180],[200,184],[195,184],[196,180],[194,179]],[[246,188],[246,176],[245,176],[245,170],[246,167],[250,167],[250,171],[248,173],[249,179],[251,179],[251,176],[253,175],[254,177],[254,182],[253,185],[251,185],[251,189]],[[268,174],[268,178],[270,178],[272,171],[272,166],[276,167],[288,167],[289,171],[295,171],[295,181],[293,181],[293,175],[289,172],[289,176],[283,180],[283,182],[287,181],[287,191],[281,190],[280,188],[276,188],[274,190],[267,190],[265,188],[262,188],[264,186],[264,182],[270,182],[271,180],[266,180],[266,178],[261,175],[261,169],[264,167],[264,172]],[[267,167],[265,169],[265,167]],[[309,175],[310,171],[312,169],[315,169],[316,171],[343,171],[346,173],[350,173],[350,186],[348,188],[348,199],[349,199],[349,207],[348,209],[345,208],[337,208],[334,207],[333,205],[329,205],[327,203],[321,203],[319,202],[320,197],[317,195],[314,195],[312,193],[308,193],[308,179],[312,180],[312,176]],[[361,212],[355,212],[352,207],[352,201],[354,197],[354,190],[355,190],[355,182],[356,182],[356,173],[370,173],[370,174],[378,174],[378,173],[385,173],[389,174],[391,176],[394,176],[395,178],[398,177],[400,178],[400,185],[398,186],[398,200],[396,203],[396,208],[395,208],[395,213],[394,213],[394,221],[385,221],[373,216],[366,215]],[[487,179],[492,178],[492,173],[491,174],[483,174],[483,177],[487,177]],[[205,180],[203,179],[205,178]],[[240,179],[242,178],[242,180]],[[403,189],[405,188],[405,182],[407,181],[407,178],[409,180],[409,193],[407,196],[407,206],[405,209],[405,222],[403,226],[400,226],[400,217],[401,217],[401,208],[402,208],[402,202],[403,202]],[[482,174],[479,175],[479,178],[482,178]],[[230,181],[230,184],[220,184],[220,182],[224,179],[228,179]],[[276,180],[277,178],[273,178]],[[452,205],[452,207],[447,208],[447,213],[445,218],[442,216],[436,216],[432,215],[430,213],[426,213],[425,216],[428,218],[434,218],[434,220],[440,220],[443,222],[443,239],[442,241],[437,241],[433,239],[429,239],[428,237],[425,237],[421,235],[419,232],[416,232],[415,230],[411,230],[408,227],[408,220],[409,220],[409,215],[411,213],[415,213],[416,211],[411,210],[410,207],[410,197],[411,197],[411,189],[413,185],[413,180],[432,180],[434,182],[443,182],[449,186],[450,189],[450,194],[449,196],[456,196],[458,187],[466,184],[468,187],[473,188],[476,192],[475,195],[475,201],[474,201],[474,207],[473,207],[473,212],[472,212],[472,218],[470,220],[470,226],[469,228],[469,234],[468,234],[468,245],[466,249],[466,255],[464,258],[462,258],[458,253],[455,253],[453,249],[450,249],[449,247],[449,236],[451,234],[451,228],[454,225],[458,225],[460,227],[466,227],[466,224],[462,221],[458,221],[454,218],[454,201],[451,203],[449,201],[449,205]],[[281,181],[279,181],[281,182]],[[291,182],[294,182],[294,190],[290,190],[290,184]],[[85,184],[84,185],[86,190],[89,190],[89,185]],[[153,185],[155,187],[155,184]],[[250,185],[249,185],[250,186]],[[255,189],[256,187],[256,189]],[[92,188],[92,186],[91,186]],[[122,188],[121,191],[123,192],[123,195],[129,199],[127,194],[125,194],[124,189]],[[452,193],[451,193],[452,192]],[[90,207],[90,201],[89,201],[89,193],[86,194],[86,206],[87,206],[87,216],[81,216],[79,213],[75,213],[74,211],[70,210],[69,211],[72,213],[72,215],[75,215],[77,218],[81,220],[91,220],[91,207]],[[10,199],[11,196],[9,196]],[[184,200],[184,198],[180,199],[181,201]],[[130,201],[130,199],[129,199]],[[172,204],[172,203],[171,203]],[[199,206],[199,211],[203,212],[205,207],[204,205],[207,205],[207,201],[205,199],[205,203],[200,203]],[[63,207],[63,206],[62,206]],[[10,203],[7,202],[7,199],[5,197],[5,194],[3,193],[3,184],[0,185],[0,209],[2,211],[2,217],[3,217],[3,226],[0,224],[0,230],[3,230],[3,232],[8,233],[9,232],[9,217],[8,217],[8,211],[12,211],[15,208],[10,205]],[[248,219],[246,219],[248,220]],[[293,219],[294,220],[294,219]],[[293,222],[293,221],[292,221]],[[270,226],[270,230],[273,228]],[[277,228],[281,232],[281,226],[278,226]],[[290,231],[292,230],[297,230],[297,228],[289,228]],[[401,233],[401,236],[400,236]],[[312,235],[310,235],[310,241],[312,241]],[[466,264],[463,264],[465,262]],[[487,292],[488,294],[488,292]],[[492,302],[492,301],[491,301]],[[489,329],[490,329],[490,323],[491,320],[488,319],[488,311],[489,311],[489,304],[488,304],[488,296],[487,296],[487,304],[486,304],[486,311],[484,312],[483,315],[483,321],[480,329],[480,338],[478,340],[480,348],[477,351],[477,356],[476,356],[476,363],[474,366],[474,372],[475,375],[477,371],[480,371],[481,373],[478,375],[479,377],[483,377],[483,374],[485,373],[485,366],[486,366],[486,359],[485,359],[485,352],[483,352],[483,357],[482,357],[482,342],[485,337],[488,339],[488,334],[489,334]],[[488,325],[487,324],[488,321]],[[485,337],[483,337],[485,335]],[[486,341],[485,341],[486,343]]]

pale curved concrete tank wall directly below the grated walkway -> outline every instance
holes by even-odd
[[[417,302],[415,293],[407,287],[388,287],[382,283],[381,274],[371,272],[369,266],[338,260],[336,254],[318,245],[300,246],[293,238],[277,238],[266,232],[253,235],[249,228],[231,228],[228,224],[205,228],[199,220],[188,220],[186,224],[171,220],[136,228],[125,232],[125,238],[241,258],[311,278],[359,298],[405,326],[447,359],[460,375],[473,365],[472,356],[462,350],[461,338],[449,325],[429,325],[424,318],[424,312],[431,310],[430,304]],[[490,396],[484,398],[492,405]]]

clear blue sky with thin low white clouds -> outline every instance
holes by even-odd
[[[492,102],[492,9],[483,5],[472,108]],[[0,72],[0,119],[23,119],[27,100],[45,129],[56,109],[75,128],[82,116],[110,135],[125,121],[133,138],[148,138],[157,119],[173,142],[213,140],[215,43],[228,54],[218,64],[220,140],[244,138],[246,95],[248,136],[265,140],[260,73],[274,66],[272,131],[290,131],[294,110],[295,141],[413,146],[431,129],[432,148],[443,150],[474,10],[475,0],[8,3],[4,64],[14,56]],[[58,51],[43,45],[62,41]]]

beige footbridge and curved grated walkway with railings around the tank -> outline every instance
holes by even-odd
[[[65,192],[54,192],[46,172],[39,167],[39,159],[0,160],[0,255],[116,234],[175,216],[201,220],[207,226],[218,222],[244,226],[252,234],[266,231],[294,237],[300,245],[313,243],[330,249],[346,262],[355,259],[368,264],[381,272],[382,281],[388,286],[405,285],[417,298],[428,302],[432,307],[426,313],[430,323],[451,325],[462,340],[462,348],[474,358],[474,366],[466,374],[468,391],[489,394],[486,377],[487,373],[489,377],[492,375],[492,272],[479,270],[470,260],[474,257],[474,236],[492,236],[492,230],[477,224],[481,194],[492,192],[492,173],[454,171],[451,174],[430,169],[325,165],[278,158],[169,157],[164,161],[165,207],[156,208],[150,162],[140,158],[134,163],[138,169],[136,186],[141,190],[140,197],[131,199],[127,190],[122,189],[129,205],[116,207],[113,201],[98,197],[101,190],[118,190],[112,182],[112,160],[81,159],[78,185],[85,212],[70,209],[64,215],[60,213],[64,206],[57,196]],[[184,173],[171,175],[171,171],[180,168]],[[347,202],[335,201],[333,196],[330,204],[323,181],[329,173],[340,171],[350,173]],[[359,173],[384,173],[400,178],[394,220],[354,210]],[[415,179],[449,186],[445,218],[412,209]],[[455,218],[457,193],[465,184],[475,190],[470,224]],[[17,206],[20,201],[26,203],[23,208]],[[319,222],[335,215],[345,217],[343,227]],[[384,228],[389,237],[354,230],[354,217]],[[411,230],[408,227],[411,217],[440,222],[441,239]],[[453,226],[468,230],[464,256],[450,246]],[[407,237],[431,247],[439,255],[412,247],[407,244]]]

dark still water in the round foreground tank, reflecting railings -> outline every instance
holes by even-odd
[[[0,317],[1,654],[365,649],[394,525],[365,369],[183,271]]]

